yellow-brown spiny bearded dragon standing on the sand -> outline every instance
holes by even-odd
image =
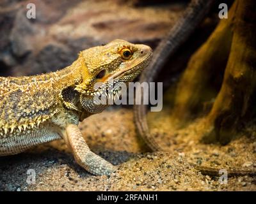
[[[85,170],[109,175],[115,166],[89,149],[77,125],[108,106],[94,103],[95,96],[120,94],[110,82],[131,82],[151,56],[147,45],[114,40],[83,50],[76,61],[60,71],[0,77],[0,156],[63,139]],[[95,89],[97,82],[102,84]]]

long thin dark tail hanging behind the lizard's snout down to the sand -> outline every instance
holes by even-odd
[[[204,20],[210,10],[213,0],[192,0],[179,21],[170,29],[159,43],[149,66],[143,70],[140,83],[153,82],[165,62],[188,40],[196,27]],[[144,93],[147,94],[147,93]],[[147,106],[143,105],[143,89],[141,88],[141,105],[134,105],[134,120],[138,133],[151,150],[163,150],[150,135],[146,119]]]

